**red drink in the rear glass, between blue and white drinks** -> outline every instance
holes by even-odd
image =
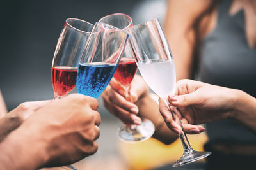
[[[136,74],[136,71],[137,66],[134,59],[122,57],[114,77],[119,83],[125,87],[129,87],[134,75]]]

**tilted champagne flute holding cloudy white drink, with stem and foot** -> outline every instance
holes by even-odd
[[[167,97],[168,95],[173,95],[175,90],[175,66],[170,46],[159,21],[155,19],[136,25],[128,29],[127,32],[130,36],[129,43],[134,51],[134,58],[140,73],[149,87],[168,104]],[[172,113],[172,116],[175,118],[175,113]],[[180,120],[179,122],[182,127]],[[184,153],[173,164],[173,167],[189,164],[211,154],[211,152],[193,150],[183,127],[180,140]]]

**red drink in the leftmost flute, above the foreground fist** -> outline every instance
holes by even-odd
[[[76,86],[76,67],[52,67],[54,98],[65,96]]]

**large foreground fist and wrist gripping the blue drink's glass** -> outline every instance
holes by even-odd
[[[92,97],[70,94],[30,115],[0,143],[0,169],[63,166],[97,151],[100,115]]]

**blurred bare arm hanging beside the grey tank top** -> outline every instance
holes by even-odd
[[[170,43],[177,80],[193,75],[195,19],[211,4],[210,0],[168,1],[164,32]]]

